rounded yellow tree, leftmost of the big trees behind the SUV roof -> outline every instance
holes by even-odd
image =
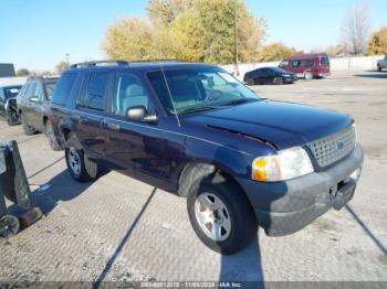
[[[151,30],[140,19],[123,19],[111,25],[102,46],[112,58],[136,61],[154,57]]]

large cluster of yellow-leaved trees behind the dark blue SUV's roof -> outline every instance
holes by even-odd
[[[112,58],[180,58],[226,64],[258,61],[265,21],[240,0],[149,0],[150,24],[123,19],[108,26],[103,50]],[[237,15],[237,18],[236,18]]]

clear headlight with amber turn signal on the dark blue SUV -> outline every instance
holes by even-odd
[[[251,168],[251,179],[278,182],[313,172],[306,151],[301,147],[281,150],[278,154],[257,158]]]

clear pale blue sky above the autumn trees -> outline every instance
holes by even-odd
[[[373,31],[387,25],[387,0],[363,0]],[[146,18],[147,0],[0,0],[0,63],[54,71],[55,64],[105,58],[107,25],[124,17]],[[305,52],[336,44],[347,9],[358,0],[245,0],[268,23],[265,43]],[[69,54],[69,56],[66,56]]]

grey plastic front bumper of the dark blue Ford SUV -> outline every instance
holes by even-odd
[[[360,144],[332,168],[293,180],[265,183],[238,179],[247,193],[258,223],[270,236],[292,234],[330,208],[342,208],[352,197],[363,167]]]

